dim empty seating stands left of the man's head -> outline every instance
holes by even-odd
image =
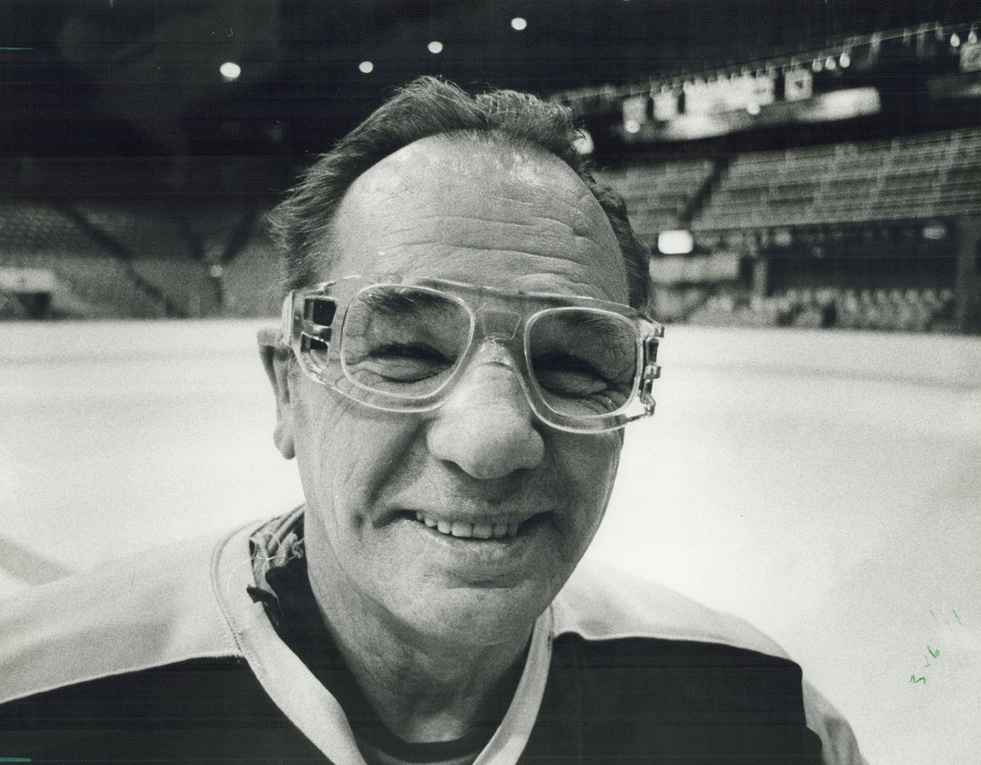
[[[279,267],[252,230],[257,217],[228,204],[6,202],[0,266],[50,269],[56,316],[271,315]],[[249,226],[234,243],[242,221]],[[0,305],[0,317],[22,313],[11,299]]]

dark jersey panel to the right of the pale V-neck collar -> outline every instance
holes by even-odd
[[[730,645],[563,635],[522,762],[819,765],[800,667]]]

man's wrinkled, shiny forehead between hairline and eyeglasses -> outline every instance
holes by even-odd
[[[626,302],[623,258],[581,178],[536,147],[434,136],[348,189],[330,274],[397,273]]]

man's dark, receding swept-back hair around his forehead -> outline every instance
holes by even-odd
[[[437,77],[419,77],[399,88],[324,154],[270,214],[273,235],[283,251],[285,288],[314,279],[311,254],[330,235],[337,206],[355,178],[403,146],[447,133],[499,136],[505,143],[539,146],[564,161],[589,186],[616,234],[627,268],[630,304],[645,305],[645,248],[631,229],[623,199],[596,181],[590,163],[573,145],[580,133],[572,111],[514,90],[472,96]]]

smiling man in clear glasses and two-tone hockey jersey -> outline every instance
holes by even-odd
[[[260,337],[305,505],[6,603],[0,755],[861,761],[748,625],[577,569],[661,332],[575,137],[427,78],[313,166]]]

